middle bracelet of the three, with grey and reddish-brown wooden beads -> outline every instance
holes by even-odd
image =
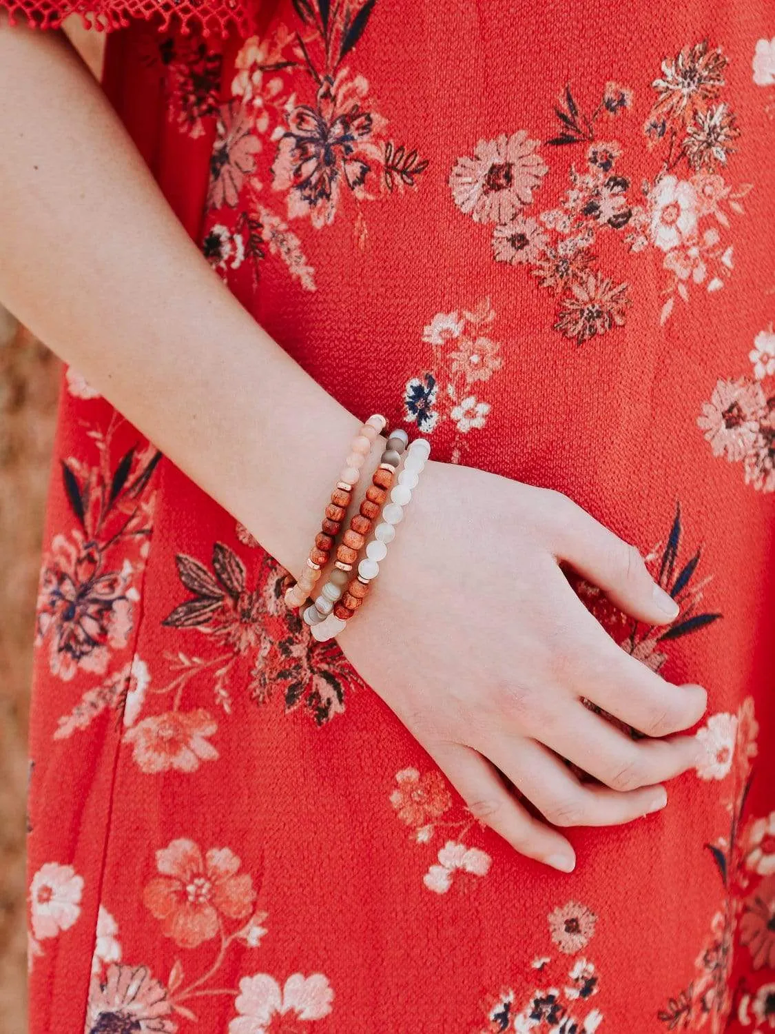
[[[304,611],[304,620],[307,625],[319,625],[331,614],[332,610],[336,609],[341,613],[345,604],[346,613],[349,617],[360,606],[361,598],[358,596],[349,595],[348,599],[348,595],[346,594],[344,604],[340,604],[338,601],[344,591],[345,585],[350,582],[349,573],[352,571],[364,543],[371,531],[372,524],[379,513],[379,508],[384,503],[388,492],[393,487],[396,467],[401,462],[401,456],[408,442],[408,434],[402,430],[394,431],[388,438],[388,445],[379,459],[379,465],[372,475],[371,485],[366,490],[366,496],[361,504],[360,511],[350,520],[350,526],[344,533],[342,542],[337,548],[334,570],[315,602]],[[355,579],[353,579],[354,581]],[[358,592],[358,589],[355,591]]]

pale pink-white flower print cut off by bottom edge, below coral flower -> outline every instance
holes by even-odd
[[[322,973],[293,973],[283,987],[269,973],[244,976],[235,1005],[240,1013],[228,1025],[228,1034],[268,1034],[274,1017],[292,1012],[292,1020],[322,1020],[331,1012],[334,992]]]

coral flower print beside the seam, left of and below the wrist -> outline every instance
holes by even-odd
[[[207,738],[217,730],[210,711],[166,711],[143,719],[124,733],[124,740],[132,744],[132,758],[144,772],[192,772],[200,761],[217,760],[218,752]]]

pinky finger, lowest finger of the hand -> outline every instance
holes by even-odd
[[[487,758],[461,743],[436,743],[429,753],[475,819],[494,829],[520,854],[562,873],[574,871],[576,854],[570,844],[529,814]]]

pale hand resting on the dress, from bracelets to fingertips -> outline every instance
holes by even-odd
[[[699,756],[693,736],[670,734],[701,718],[707,694],[622,650],[559,567],[632,617],[669,624],[678,606],[637,549],[558,492],[434,462],[397,533],[341,646],[472,815],[570,872],[574,850],[552,825],[613,825],[663,808],[658,784]],[[583,784],[562,759],[601,785]]]

